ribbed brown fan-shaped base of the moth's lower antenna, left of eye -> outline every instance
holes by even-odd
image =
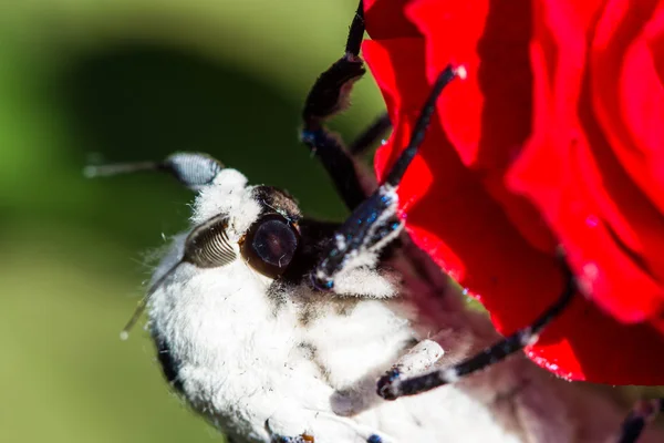
[[[225,216],[212,217],[194,228],[185,241],[183,261],[199,268],[217,268],[236,259],[236,253],[228,241]]]

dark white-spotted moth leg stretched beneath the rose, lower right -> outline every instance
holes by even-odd
[[[447,383],[453,383],[465,375],[480,371],[537,342],[539,334],[547,324],[564,311],[577,293],[574,276],[567,265],[564,271],[566,287],[561,296],[530,326],[518,330],[500,342],[486,348],[478,354],[452,368],[437,369],[423,375],[405,379],[402,378],[398,369],[392,369],[378,380],[378,395],[385,400],[396,400],[400,396],[415,395]]]

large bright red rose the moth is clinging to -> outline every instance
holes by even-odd
[[[394,124],[382,177],[443,68],[463,64],[400,187],[415,241],[558,375],[664,384],[664,1],[365,0]]]

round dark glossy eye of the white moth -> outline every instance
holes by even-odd
[[[282,216],[262,216],[249,228],[240,251],[257,271],[276,278],[283,274],[293,259],[300,237]]]

